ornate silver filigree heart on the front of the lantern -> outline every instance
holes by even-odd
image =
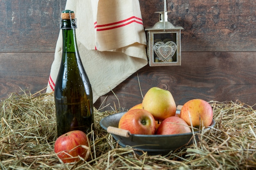
[[[162,41],[158,41],[154,45],[155,54],[159,57],[160,60],[167,62],[173,57],[177,49],[175,42],[168,41],[164,44]]]

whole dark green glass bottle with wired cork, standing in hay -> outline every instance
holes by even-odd
[[[58,136],[73,130],[88,134],[94,126],[92,87],[76,44],[74,11],[61,13],[63,52],[54,88]]]

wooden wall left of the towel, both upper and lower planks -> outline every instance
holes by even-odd
[[[62,0],[0,0],[0,98],[47,86]]]

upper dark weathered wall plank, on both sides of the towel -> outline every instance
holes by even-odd
[[[160,0],[139,0],[144,27],[158,22]],[[256,51],[254,0],[167,0],[168,21],[182,26],[182,52]],[[61,0],[0,1],[0,52],[54,52]],[[254,43],[252,43],[254,42]]]

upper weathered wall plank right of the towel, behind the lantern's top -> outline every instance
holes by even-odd
[[[144,26],[158,22],[163,0],[140,0]],[[182,26],[183,52],[256,51],[254,0],[166,0],[168,21]],[[254,43],[252,43],[254,42]]]

